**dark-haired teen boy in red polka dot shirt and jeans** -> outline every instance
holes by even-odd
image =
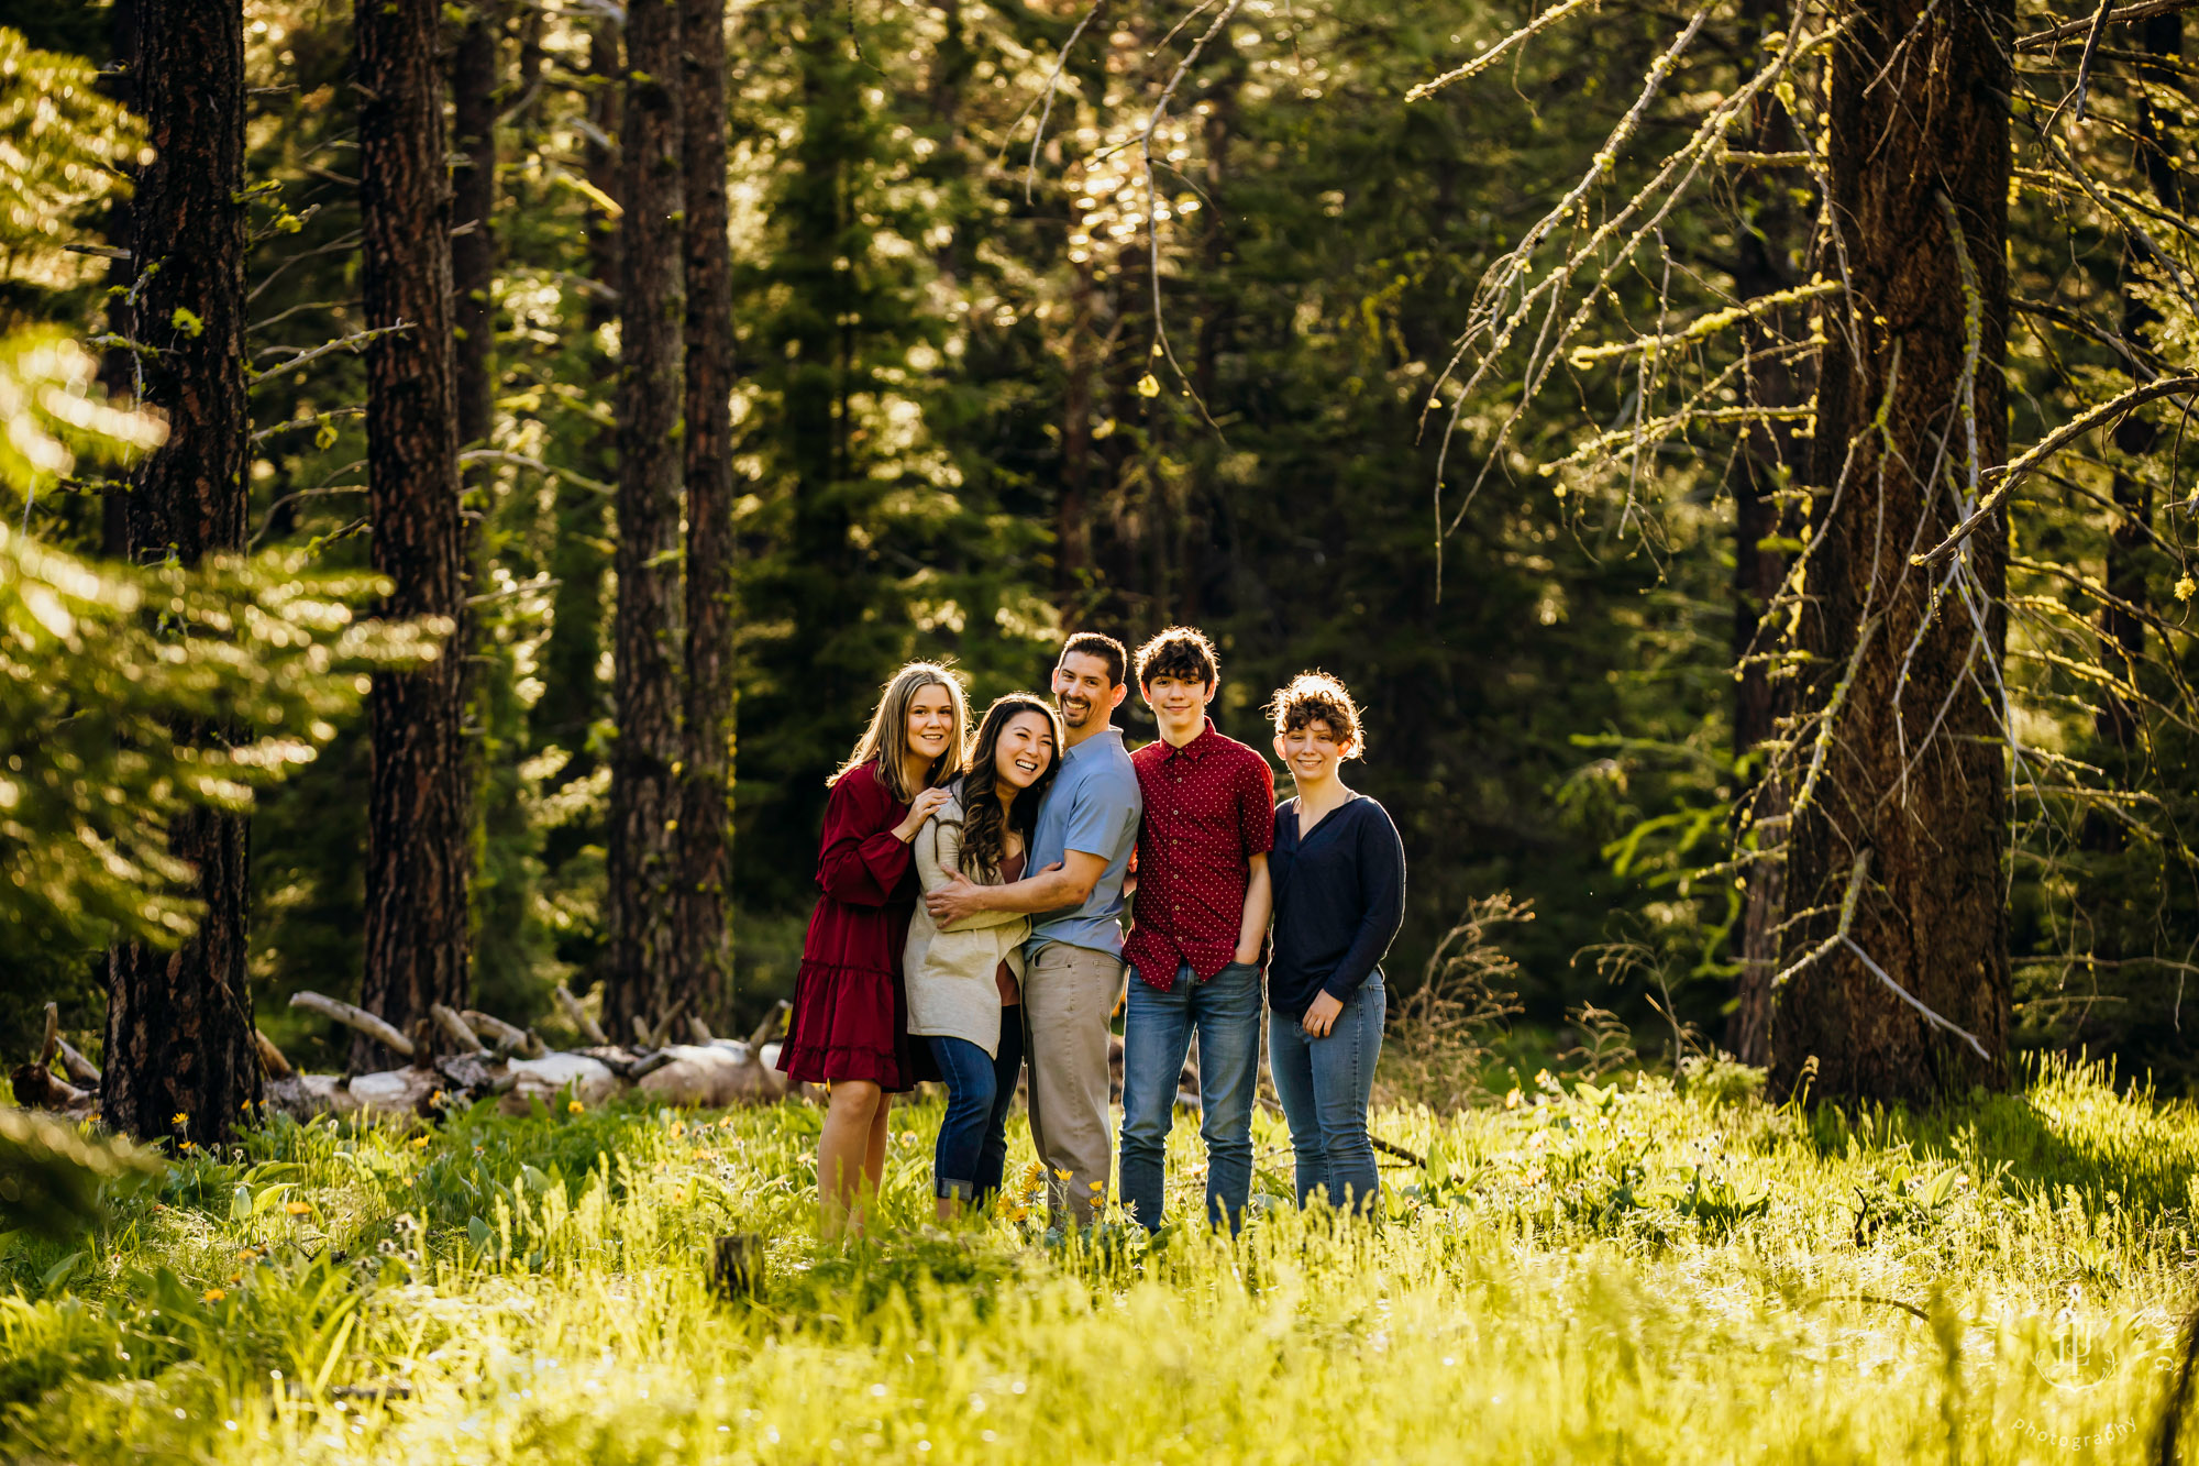
[[[1121,1200],[1152,1230],[1192,1032],[1207,1219],[1236,1230],[1251,1197],[1275,777],[1264,757],[1214,731],[1207,702],[1218,682],[1214,645],[1190,627],[1168,627],[1137,649],[1137,687],[1161,737],[1130,755],[1146,817],[1124,949],[1137,982],[1124,1017]]]

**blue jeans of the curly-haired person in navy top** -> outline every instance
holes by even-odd
[[[1326,1039],[1306,1037],[1286,1013],[1267,1019],[1267,1068],[1291,1120],[1300,1206],[1324,1189],[1330,1206],[1344,1206],[1348,1197],[1355,1211],[1372,1211],[1381,1197],[1374,1145],[1368,1140],[1368,1096],[1374,1092],[1388,1004],[1381,973],[1370,973]]]

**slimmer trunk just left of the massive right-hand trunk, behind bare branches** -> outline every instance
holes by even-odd
[[[1777,0],[1753,0],[1744,15],[1744,37],[1761,46],[1770,31],[1786,24],[1788,11]],[[1766,92],[1755,103],[1748,147],[1753,152],[1794,152],[1803,139],[1786,103]],[[1792,187],[1808,174],[1801,169],[1753,169],[1735,185],[1735,205],[1744,220],[1737,236],[1733,286],[1742,299],[1788,291],[1810,273],[1810,214],[1797,207]],[[1810,401],[1808,372],[1788,359],[1770,359],[1781,341],[1808,337],[1799,330],[1803,308],[1757,317],[1742,330],[1742,350],[1755,357],[1748,370],[1750,407],[1794,407]],[[1764,748],[1779,718],[1790,711],[1790,685],[1772,682],[1770,654],[1777,632],[1766,625],[1766,612],[1779,597],[1788,561],[1777,539],[1794,530],[1794,513],[1783,493],[1808,473],[1808,442],[1799,442],[1788,423],[1753,423],[1744,429],[1742,453],[1733,464],[1733,757],[1750,773],[1737,790],[1742,834],[1755,836],[1761,858],[1744,872],[1742,887],[1742,971],[1735,980],[1733,1013],[1726,1017],[1726,1048],[1744,1063],[1768,1065],[1772,1054],[1772,975],[1779,971],[1779,922],[1786,920],[1786,861],[1779,854],[1788,817],[1786,768],[1766,777]]]

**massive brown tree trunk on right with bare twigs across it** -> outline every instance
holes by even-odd
[[[1830,222],[1849,297],[1821,365],[1788,830],[1783,958],[1799,971],[1775,997],[1772,1083],[1792,1090],[1814,1057],[1814,1094],[1924,1101],[2005,1081],[2005,515],[1948,568],[1909,557],[1955,526],[2008,449],[2014,13],[2012,0],[1847,11]]]

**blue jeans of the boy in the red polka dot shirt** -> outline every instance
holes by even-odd
[[[1260,969],[1231,962],[1198,982],[1185,964],[1168,993],[1130,977],[1121,1021],[1121,1200],[1161,1228],[1176,1079],[1198,1032],[1198,1134],[1207,1142],[1207,1222],[1236,1230],[1251,1200],[1251,1103],[1260,1087]]]

